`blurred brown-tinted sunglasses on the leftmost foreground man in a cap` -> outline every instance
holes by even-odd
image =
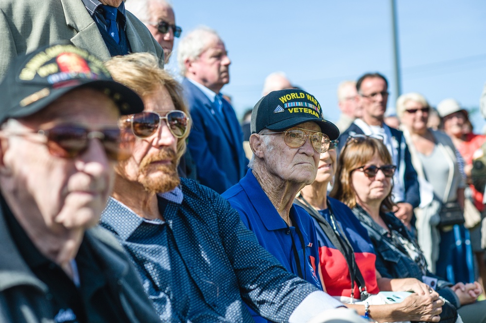
[[[27,133],[10,133],[10,136],[38,134],[45,136],[49,153],[55,157],[76,158],[86,152],[89,140],[98,139],[104,147],[106,156],[111,160],[125,160],[131,152],[121,148],[119,128],[90,131],[80,126],[60,125],[47,130]]]

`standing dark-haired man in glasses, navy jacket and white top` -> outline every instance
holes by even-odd
[[[397,171],[393,176],[393,202],[397,204],[395,216],[409,229],[412,228],[414,208],[420,204],[417,172],[403,133],[387,126],[383,120],[388,102],[388,81],[380,73],[366,73],[356,82],[362,117],[355,119],[339,137],[339,151],[349,136],[376,136],[383,140],[392,155]]]

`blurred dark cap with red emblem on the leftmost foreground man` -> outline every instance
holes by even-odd
[[[105,93],[122,115],[143,111],[138,94],[115,82],[102,61],[62,42],[14,60],[0,84],[0,122],[30,116],[78,87]]]

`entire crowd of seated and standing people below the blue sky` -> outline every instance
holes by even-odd
[[[275,72],[242,127],[223,39],[166,0],[0,3],[0,322],[486,323],[455,100],[388,125],[365,73],[334,125]]]

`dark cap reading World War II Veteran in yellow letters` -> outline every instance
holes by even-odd
[[[251,113],[250,127],[256,134],[263,128],[282,131],[308,121],[317,123],[330,140],[339,137],[334,123],[324,120],[319,102],[299,89],[273,91],[261,98]]]

